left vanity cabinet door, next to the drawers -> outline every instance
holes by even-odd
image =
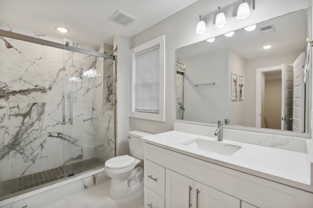
[[[190,208],[196,207],[196,182],[172,170],[165,170],[165,207]],[[190,206],[192,205],[192,206]]]

